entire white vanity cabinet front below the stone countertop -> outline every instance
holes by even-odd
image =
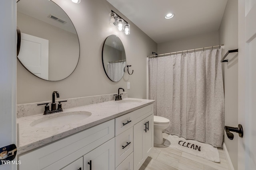
[[[132,110],[18,155],[18,170],[138,170],[154,146],[154,109]]]

